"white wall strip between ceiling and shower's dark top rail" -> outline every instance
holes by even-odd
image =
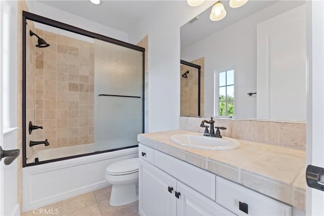
[[[63,22],[69,25],[73,25],[78,28],[83,28],[85,30],[112,37],[114,39],[128,42],[128,33],[126,32],[110,28],[108,26],[53,8],[49,5],[45,5],[40,2],[26,1],[26,3],[30,13],[50,18],[59,22]]]

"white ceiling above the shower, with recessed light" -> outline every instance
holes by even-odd
[[[92,20],[111,28],[128,32],[156,1],[101,1],[94,5],[90,1],[37,1],[62,11]]]

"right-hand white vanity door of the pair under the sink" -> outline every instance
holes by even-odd
[[[234,215],[216,202],[177,182],[177,215]]]

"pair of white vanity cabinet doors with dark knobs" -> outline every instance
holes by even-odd
[[[209,198],[140,159],[140,215],[233,215]]]

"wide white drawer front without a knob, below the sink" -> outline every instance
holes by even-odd
[[[156,150],[154,164],[186,185],[215,200],[216,176],[211,172]]]

